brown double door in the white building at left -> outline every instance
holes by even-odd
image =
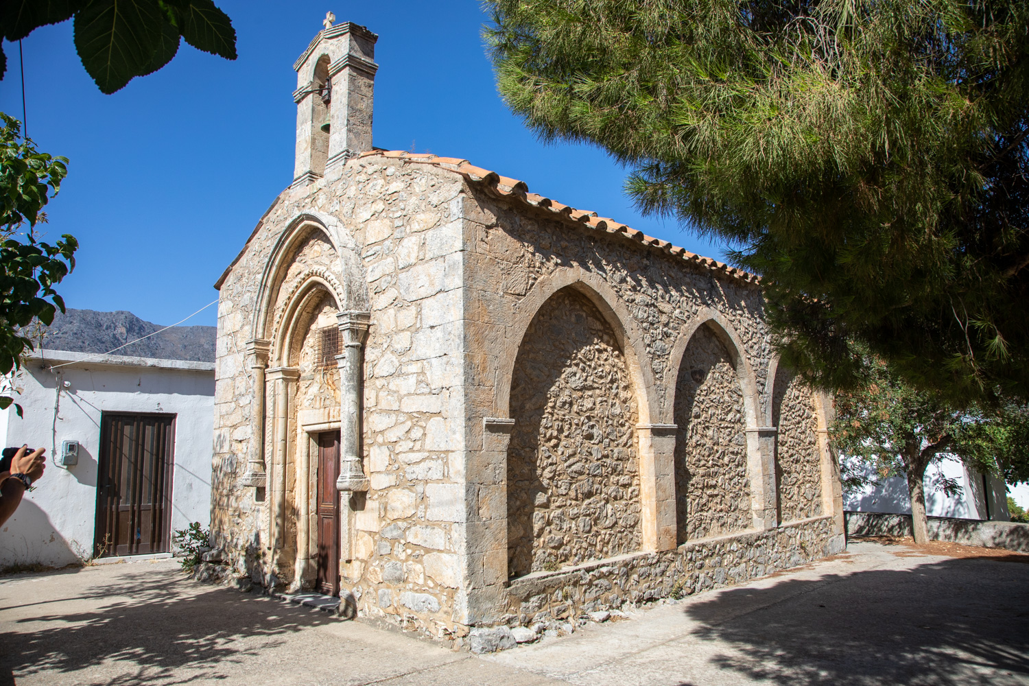
[[[101,417],[94,554],[170,550],[174,414]]]

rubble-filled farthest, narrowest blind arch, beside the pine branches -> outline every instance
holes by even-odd
[[[772,425],[775,450],[777,518],[795,521],[822,514],[822,464],[818,414],[811,389],[785,367],[775,371]]]

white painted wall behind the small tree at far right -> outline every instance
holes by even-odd
[[[863,469],[865,475],[873,475],[867,464],[859,459],[841,458],[850,461],[855,469]],[[954,479],[961,485],[961,492],[948,496],[941,489],[945,478]],[[1004,482],[997,476],[983,475],[969,470],[956,458],[945,457],[925,470],[925,510],[929,516],[961,517],[964,519],[994,519],[1006,521],[1007,503]],[[984,485],[989,493],[984,494]],[[988,502],[989,501],[989,502]],[[878,485],[868,485],[844,492],[845,510],[858,512],[911,513],[911,498],[908,482],[903,477],[891,476],[882,479]]]

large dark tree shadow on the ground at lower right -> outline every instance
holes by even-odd
[[[732,647],[720,671],[764,683],[1029,683],[1029,565],[1002,558],[730,589],[685,613],[693,638]]]

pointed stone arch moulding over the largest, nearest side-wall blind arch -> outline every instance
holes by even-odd
[[[494,406],[497,417],[509,417],[510,384],[519,348],[529,325],[540,308],[558,291],[572,288],[586,296],[603,315],[614,331],[614,336],[626,357],[626,366],[633,384],[639,421],[648,424],[651,407],[655,406],[655,386],[650,359],[643,334],[636,326],[629,309],[618,298],[614,289],[604,279],[578,267],[562,269],[539,279],[514,309],[514,318],[508,336],[499,346],[499,374],[494,388]]]

